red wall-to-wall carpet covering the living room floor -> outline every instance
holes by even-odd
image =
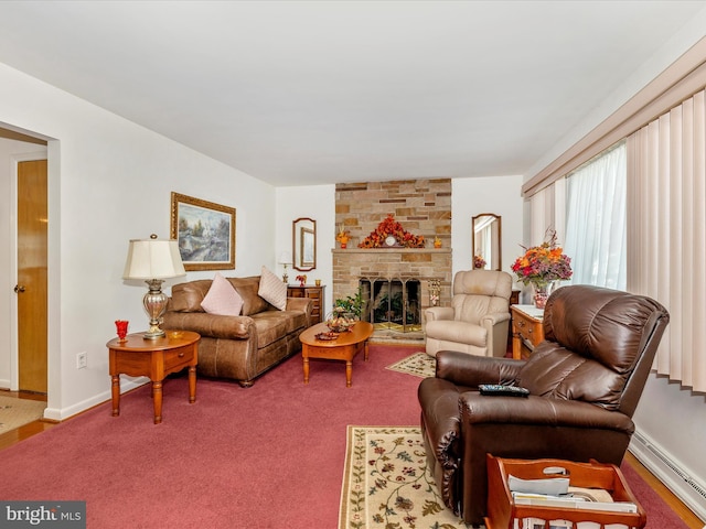
[[[169,379],[159,425],[140,388],[118,418],[106,403],[0,452],[0,498],[86,500],[90,529],[335,529],[346,425],[419,422],[420,379],[385,369],[414,352],[371,346],[347,389],[343,364],[325,360],[311,361],[304,386],[300,356],[249,389],[200,379],[194,404],[186,379]],[[685,527],[635,479],[649,528]]]

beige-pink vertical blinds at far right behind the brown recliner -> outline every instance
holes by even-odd
[[[654,367],[706,391],[706,91],[628,138],[628,289],[670,311]]]

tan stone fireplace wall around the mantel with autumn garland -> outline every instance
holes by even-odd
[[[362,249],[357,245],[387,215],[414,235],[424,235],[425,248]],[[439,305],[451,300],[451,180],[410,180],[338,184],[336,226],[350,234],[347,248],[333,249],[333,299],[352,295],[359,280],[418,279],[422,309],[431,304],[430,282],[438,281]],[[434,239],[441,239],[441,248]]]

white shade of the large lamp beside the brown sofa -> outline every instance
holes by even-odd
[[[122,279],[169,279],[186,276],[175,240],[130,240]]]

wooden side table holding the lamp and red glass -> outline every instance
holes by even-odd
[[[167,331],[167,336],[145,339],[145,333],[128,334],[125,342],[106,344],[110,355],[113,417],[120,414],[120,374],[149,377],[152,381],[154,424],[162,422],[162,380],[189,367],[189,402],[196,401],[196,364],[201,336],[191,331]]]

